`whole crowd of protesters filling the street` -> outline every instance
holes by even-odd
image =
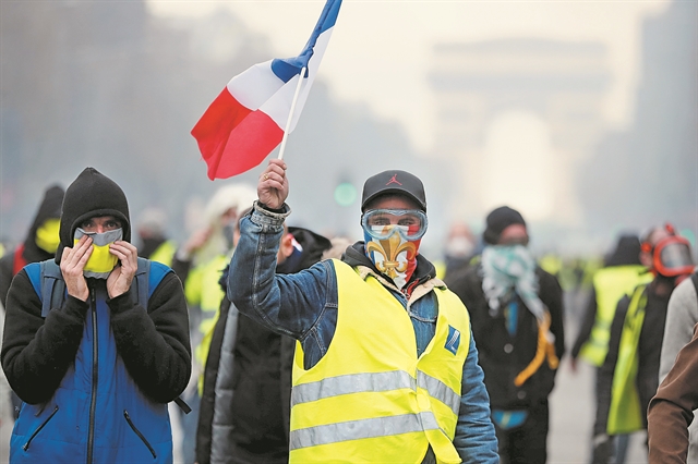
[[[502,206],[481,234],[431,231],[445,245],[430,261],[413,174],[366,180],[356,243],[288,225],[287,195],[272,161],[178,244],[163,210],[132,222],[92,168],[47,187],[0,248],[10,461],[544,463],[563,362],[594,371],[580,462],[626,462],[638,430],[650,462],[698,459],[698,277],[671,223],[604,256],[535,255]]]

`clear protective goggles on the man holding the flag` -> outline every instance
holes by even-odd
[[[394,233],[409,242],[426,232],[426,215],[419,209],[371,209],[361,216],[361,227],[374,240],[386,240]]]

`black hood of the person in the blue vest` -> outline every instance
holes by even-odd
[[[120,220],[123,240],[131,242],[129,203],[123,191],[95,168],[85,168],[65,191],[61,215],[61,243],[56,252],[56,262],[60,264],[64,247],[73,246],[73,235],[80,224],[96,216],[113,216]]]

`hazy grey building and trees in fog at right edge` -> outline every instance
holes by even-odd
[[[605,134],[583,166],[580,197],[597,229],[672,221],[698,232],[698,3],[672,2],[642,27],[629,130]],[[694,242],[695,243],[695,242]]]

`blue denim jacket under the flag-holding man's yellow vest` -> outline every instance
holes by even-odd
[[[279,333],[299,340],[305,354],[305,368],[310,368],[327,352],[335,333],[337,278],[330,260],[321,261],[294,274],[275,273],[284,219],[289,213],[290,209],[286,205],[285,212],[276,213],[255,204],[253,211],[241,220],[240,241],[230,262],[228,298],[241,313]],[[354,245],[357,246],[361,245]],[[348,248],[346,255],[351,255],[351,251],[352,248]],[[423,267],[431,267],[429,261],[421,259]],[[352,266],[356,264],[347,256],[344,260]],[[419,269],[418,264],[418,272]],[[360,271],[364,277],[371,273],[378,278],[406,307],[414,327],[420,355],[435,333],[437,307],[432,289],[443,283],[431,276],[420,283],[408,301],[388,280],[372,271],[370,266],[360,266]],[[497,441],[490,418],[490,399],[483,380],[471,332],[454,438],[454,445],[465,463],[498,463]],[[433,452],[429,450],[424,462],[434,461]]]

